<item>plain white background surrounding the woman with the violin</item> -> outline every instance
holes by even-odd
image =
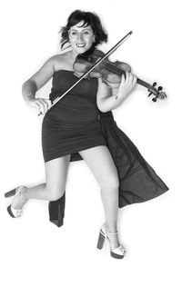
[[[1,6],[1,280],[3,285],[181,285],[181,8],[180,1],[6,1]],[[32,200],[23,216],[6,212],[4,192],[45,182],[42,119],[24,102],[25,80],[60,53],[60,26],[75,9],[96,12],[109,35],[105,51],[130,30],[115,53],[137,77],[164,86],[154,104],[136,90],[113,111],[170,191],[119,209],[127,255],[96,249],[104,222],[100,188],[84,161],[69,166],[64,226],[49,222],[48,202]],[[48,97],[51,81],[38,92]],[[1,283],[2,283],[1,281]]]

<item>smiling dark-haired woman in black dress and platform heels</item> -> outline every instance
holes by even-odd
[[[68,17],[67,25],[62,28],[61,33],[62,47],[69,43],[72,50],[49,58],[23,84],[22,89],[25,102],[45,115],[42,124],[42,146],[46,183],[41,183],[32,188],[22,185],[7,192],[6,196],[15,194],[7,211],[12,217],[18,217],[21,215],[25,202],[29,199],[38,199],[49,201],[50,210],[52,210],[50,213],[52,214],[54,214],[54,208],[56,211],[54,202],[62,205],[63,216],[65,207],[63,200],[69,162],[84,159],[101,187],[101,197],[106,215],[106,222],[99,232],[97,248],[103,247],[106,238],[109,242],[111,256],[123,258],[126,250],[118,239],[118,206],[147,201],[166,192],[167,186],[147,164],[137,151],[136,146],[126,137],[126,134],[120,130],[118,133],[116,123],[111,115],[111,110],[121,104],[135,87],[135,75],[126,72],[126,76],[122,76],[119,88],[113,90],[99,78],[83,79],[50,109],[56,97],[63,94],[77,81],[73,70],[76,56],[90,53],[96,49],[97,44],[107,41],[106,32],[98,16],[80,10],[74,11]],[[35,99],[35,93],[52,77],[53,87],[49,100]],[[109,113],[111,113],[110,119],[106,115]],[[102,120],[99,120],[99,114]],[[108,134],[108,132],[110,133]],[[109,144],[109,140],[112,140],[116,134],[117,143],[123,144],[123,153],[122,155],[121,153],[118,154],[118,157],[115,157],[113,153],[112,143]],[[119,136],[122,138],[119,139]],[[119,145],[120,147],[121,145]],[[120,150],[119,148],[117,149]],[[120,163],[117,162],[118,158],[121,159]],[[122,163],[124,163],[123,166]],[[123,176],[121,186],[120,175],[126,170],[126,163],[127,165],[129,163],[129,168],[125,172],[125,178]],[[130,180],[127,178],[129,181],[127,184],[130,182],[136,184],[137,180],[135,181],[135,178],[132,177],[132,174],[135,173],[136,178],[141,178],[141,184],[139,183],[137,191],[142,192],[144,182],[149,182],[149,188],[152,192],[148,192],[146,197],[141,195],[141,200],[138,199],[138,195],[135,197],[132,192],[127,192],[125,196],[126,173],[129,174],[130,178]],[[122,193],[120,192],[121,187]],[[157,191],[155,193],[153,192],[154,187]]]

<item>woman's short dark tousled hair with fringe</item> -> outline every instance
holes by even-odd
[[[107,42],[108,36],[105,29],[102,27],[100,19],[96,13],[75,10],[71,15],[69,15],[66,26],[60,28],[59,33],[61,33],[61,48],[64,46],[64,44],[69,42],[68,30],[70,27],[76,25],[82,20],[84,21],[82,26],[91,25],[94,35],[96,36],[96,42],[93,43],[93,47],[102,42]]]

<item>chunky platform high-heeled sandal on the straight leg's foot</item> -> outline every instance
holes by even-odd
[[[111,249],[111,244],[110,240],[107,236],[107,233],[109,234],[117,234],[117,232],[106,232],[106,225],[105,223],[100,229],[99,236],[98,236],[98,242],[97,242],[97,249],[101,250],[104,246],[105,240],[107,239],[107,242],[109,243],[110,246],[110,255],[116,259],[122,259],[126,255],[126,249],[120,244],[119,247],[116,249],[112,250]]]

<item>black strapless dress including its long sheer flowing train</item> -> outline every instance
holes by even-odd
[[[77,77],[72,71],[60,70],[53,76],[50,100],[63,94]],[[119,177],[119,203],[146,202],[168,187],[139,153],[136,145],[119,129],[113,113],[102,113],[96,105],[97,79],[83,79],[47,113],[42,124],[42,146],[45,162],[71,154],[70,162],[83,160],[78,153],[97,145],[106,145],[116,164]],[[49,219],[63,225],[66,192],[49,202]]]

